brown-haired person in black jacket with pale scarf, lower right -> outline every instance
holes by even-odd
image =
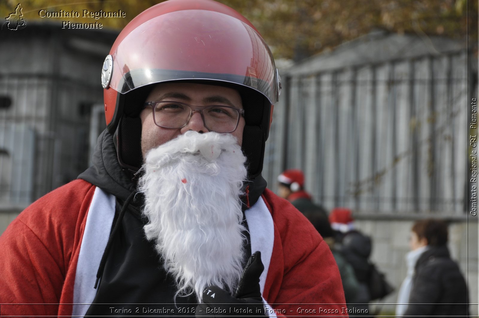
[[[411,228],[408,272],[398,295],[397,317],[467,317],[468,289],[447,248],[447,224],[425,219]]]

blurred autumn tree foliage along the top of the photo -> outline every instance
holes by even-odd
[[[133,17],[161,1],[23,0],[28,21],[40,18],[38,11],[125,11],[126,18],[101,18],[104,27],[123,28]],[[300,60],[345,41],[381,28],[390,32],[443,35],[478,42],[478,1],[474,0],[219,0],[248,18],[270,45],[275,58]],[[18,0],[3,0],[0,11],[7,16]],[[92,18],[68,18],[72,23],[96,22]]]

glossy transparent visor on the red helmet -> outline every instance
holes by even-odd
[[[171,80],[224,81],[261,92],[274,104],[274,59],[249,25],[223,13],[175,11],[141,24],[118,45],[110,87],[126,93]]]

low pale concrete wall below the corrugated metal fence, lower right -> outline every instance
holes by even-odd
[[[406,276],[406,253],[413,219],[367,219],[356,221],[357,227],[373,239],[372,260],[386,274],[395,291],[379,301],[382,309],[394,311],[399,287]],[[478,219],[456,220],[449,223],[449,251],[468,282],[470,313],[478,315]]]

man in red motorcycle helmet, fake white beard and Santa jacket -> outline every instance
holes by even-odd
[[[1,314],[343,316],[328,245],[262,178],[281,82],[251,22],[163,1],[98,70],[93,166],[1,235]]]

